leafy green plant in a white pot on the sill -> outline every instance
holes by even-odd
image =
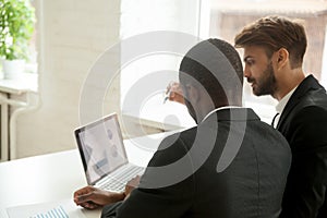
[[[24,70],[34,24],[35,11],[29,0],[0,0],[0,57],[4,78],[14,78]]]

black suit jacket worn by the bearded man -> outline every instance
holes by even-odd
[[[293,157],[281,217],[327,218],[327,95],[312,75],[291,96],[277,129]]]

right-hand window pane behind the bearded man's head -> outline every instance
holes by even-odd
[[[280,14],[305,21],[307,50],[304,57],[304,72],[314,74],[322,83],[326,80],[326,70],[322,69],[323,48],[326,38],[327,2],[320,0],[213,0],[210,5],[210,37],[222,38],[233,45],[235,34],[246,24],[270,14]],[[240,56],[242,49],[240,49]],[[326,51],[325,51],[326,53]],[[326,59],[326,55],[324,56]],[[325,66],[327,68],[327,66]],[[325,72],[322,73],[322,72]],[[275,111],[275,100],[270,96],[256,97],[244,82],[244,105],[253,108],[262,120],[270,123]]]

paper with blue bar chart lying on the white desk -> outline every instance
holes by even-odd
[[[72,199],[7,208],[9,218],[85,218]]]

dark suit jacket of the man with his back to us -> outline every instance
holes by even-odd
[[[252,109],[221,109],[165,138],[140,187],[102,217],[278,217],[290,164],[284,137]]]

